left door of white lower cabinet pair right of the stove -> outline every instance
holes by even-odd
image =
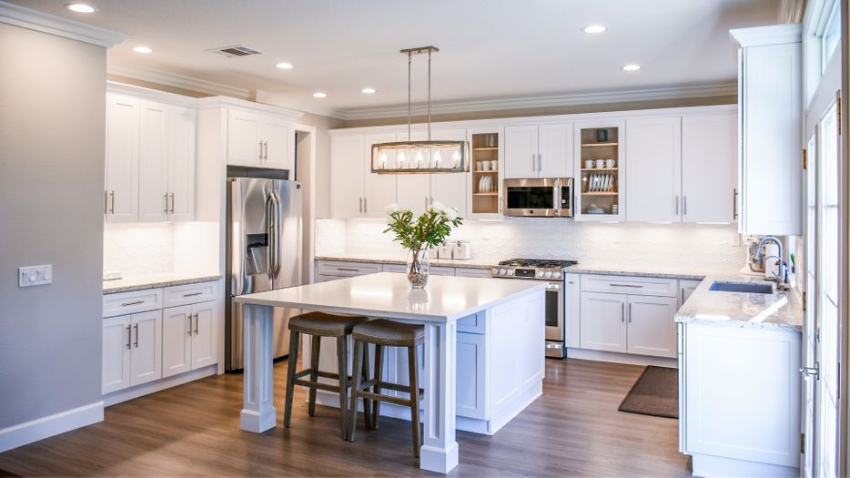
[[[582,292],[582,349],[626,351],[626,303],[622,294]]]

